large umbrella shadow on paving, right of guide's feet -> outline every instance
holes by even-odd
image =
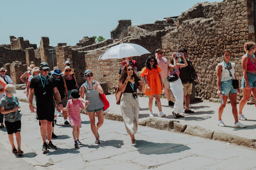
[[[137,151],[144,155],[172,154],[190,149],[178,143],[155,143],[145,140],[136,140],[136,143],[137,147],[135,148],[139,148]]]

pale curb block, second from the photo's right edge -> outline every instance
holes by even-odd
[[[188,125],[184,131],[186,134],[191,134],[198,137],[212,139],[213,131],[205,129],[201,126]]]

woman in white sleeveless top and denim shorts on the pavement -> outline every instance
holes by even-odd
[[[221,116],[223,113],[223,109],[226,107],[227,99],[229,97],[233,116],[235,118],[235,127],[236,128],[245,128],[246,126],[240,122],[238,122],[237,117],[237,107],[236,107],[236,96],[237,92],[240,93],[240,89],[235,89],[232,85],[233,79],[236,79],[235,75],[235,63],[231,63],[228,60],[230,59],[230,52],[229,50],[223,50],[222,52],[223,62],[219,63],[216,66],[217,70],[217,86],[218,91],[217,94],[220,96],[222,95],[223,104],[219,107],[219,120],[217,122],[218,126],[226,126],[222,120]],[[232,77],[230,76],[230,73]],[[234,78],[233,78],[234,77]]]

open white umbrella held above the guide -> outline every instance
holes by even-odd
[[[99,57],[99,60],[141,56],[143,54],[150,54],[150,52],[138,44],[123,43],[109,48],[107,52]]]

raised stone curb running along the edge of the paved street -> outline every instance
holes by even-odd
[[[18,99],[19,101],[28,103],[27,98],[18,98]],[[87,114],[85,111],[81,111],[81,113]],[[104,111],[104,118],[106,118],[107,120],[123,122],[122,115],[111,113],[108,111]],[[166,118],[161,118],[161,117],[142,118],[139,120],[139,125],[148,126],[150,128],[159,129],[159,130],[186,133],[186,134],[194,135],[197,137],[235,143],[236,145],[242,145],[249,148],[256,148],[255,139],[238,137],[237,135],[228,134],[224,132],[215,132],[215,131],[211,131],[209,129],[203,128],[202,126],[180,124],[179,121],[168,120]]]

